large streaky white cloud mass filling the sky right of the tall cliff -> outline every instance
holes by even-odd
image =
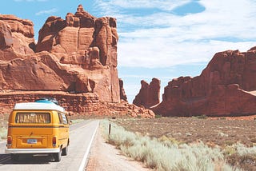
[[[190,1],[97,1],[102,13],[118,19],[118,65],[168,67],[209,62],[224,50],[246,51],[256,46],[254,0],[199,1],[206,10],[178,16],[174,7]],[[158,8],[154,14],[122,13],[123,9]],[[127,26],[127,27],[126,27]],[[129,30],[133,27],[133,30]]]

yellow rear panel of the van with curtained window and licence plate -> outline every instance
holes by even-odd
[[[13,148],[38,149],[46,148],[53,133],[50,112],[17,112],[15,123],[10,125]]]

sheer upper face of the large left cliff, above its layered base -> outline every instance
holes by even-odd
[[[94,18],[81,5],[66,20],[48,18],[37,45],[32,22],[0,15],[0,89],[96,93],[120,102],[117,42],[116,19]]]

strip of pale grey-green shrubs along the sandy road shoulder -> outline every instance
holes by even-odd
[[[225,163],[224,154],[217,147],[212,149],[202,142],[193,145],[166,143],[167,140],[140,136],[114,124],[111,124],[111,134],[107,135],[108,122],[102,121],[101,125],[108,142],[118,145],[126,156],[144,162],[151,169],[234,170]]]

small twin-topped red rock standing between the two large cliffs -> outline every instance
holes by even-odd
[[[146,108],[157,105],[160,102],[160,80],[153,78],[150,84],[142,80],[141,84],[142,88],[134,98],[134,105],[143,105]]]

